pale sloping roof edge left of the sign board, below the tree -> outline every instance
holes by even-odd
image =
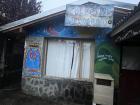
[[[58,8],[57,10],[53,9],[51,11],[39,13],[39,14],[36,14],[36,15],[33,15],[33,16],[30,16],[27,18],[23,18],[23,19],[5,24],[5,25],[0,27],[0,32],[5,33],[8,31],[12,31],[12,30],[15,30],[18,28],[26,27],[26,26],[34,24],[36,22],[44,21],[46,19],[64,14],[65,8],[66,8],[65,6],[62,6],[62,7]]]

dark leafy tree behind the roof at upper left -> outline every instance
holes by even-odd
[[[0,23],[5,24],[37,14],[40,8],[41,2],[36,0],[0,0]]]

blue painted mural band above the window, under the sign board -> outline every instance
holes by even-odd
[[[66,27],[64,16],[46,21],[27,30],[30,36],[59,37],[59,38],[87,38],[94,39],[98,29],[88,27]]]

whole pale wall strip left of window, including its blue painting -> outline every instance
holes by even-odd
[[[33,38],[34,39],[34,38]],[[23,76],[41,76],[41,43],[26,39],[24,52]]]

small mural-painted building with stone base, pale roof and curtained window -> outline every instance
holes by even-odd
[[[95,7],[104,5],[111,8],[113,11],[109,19],[114,21],[108,21],[109,26],[113,26],[134,7],[111,0],[79,0],[71,5],[94,7],[95,11]],[[81,14],[85,14],[87,21],[98,20],[97,11],[90,11],[93,15],[91,18],[86,12]],[[120,50],[109,36],[112,27],[106,27],[100,21],[97,22],[100,27],[90,26],[92,24],[75,26],[71,22],[66,23],[67,13],[66,6],[62,6],[3,25],[0,31],[11,36],[15,33],[18,36],[25,35],[22,90],[26,94],[90,105],[93,100],[94,73],[111,76],[115,91],[118,90]],[[110,13],[105,12],[107,15]],[[104,14],[100,18],[104,19]]]

